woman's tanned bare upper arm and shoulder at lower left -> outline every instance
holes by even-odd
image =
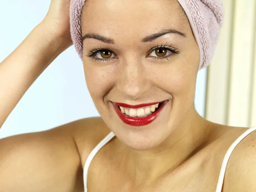
[[[0,191],[82,189],[81,161],[72,137],[76,123],[0,140]]]

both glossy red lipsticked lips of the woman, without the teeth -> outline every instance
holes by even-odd
[[[142,117],[142,118],[134,118],[134,117],[125,115],[124,113],[122,113],[120,111],[119,106],[125,107],[125,108],[142,108],[142,107],[145,107],[148,105],[157,104],[158,102],[157,103],[141,104],[141,105],[127,105],[124,103],[113,103],[113,102],[112,102],[112,104],[113,104],[113,107],[114,107],[117,115],[120,117],[120,119],[124,123],[126,123],[128,125],[132,125],[132,126],[143,126],[143,125],[148,125],[149,123],[153,122],[157,118],[157,116],[159,116],[159,114],[163,110],[163,107],[165,106],[166,102],[167,102],[167,100],[164,102],[160,102],[162,105],[156,112],[152,113],[150,116]]]

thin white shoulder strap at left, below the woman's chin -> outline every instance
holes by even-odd
[[[87,157],[87,160],[84,163],[84,192],[87,192],[87,174],[88,174],[90,163],[93,160],[93,157],[114,136],[115,134],[113,133],[113,131],[111,131],[101,142],[99,142],[99,144],[90,152],[89,156]]]

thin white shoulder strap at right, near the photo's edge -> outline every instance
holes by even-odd
[[[224,175],[225,175],[225,170],[227,168],[227,162],[230,158],[230,155],[232,153],[232,151],[234,150],[234,148],[236,147],[236,145],[244,139],[244,137],[246,137],[248,134],[250,134],[252,131],[255,131],[256,130],[256,127],[253,127],[253,128],[249,128],[247,129],[246,131],[244,131],[243,134],[241,134],[233,143],[232,145],[230,146],[230,148],[227,150],[227,153],[224,157],[224,160],[222,162],[222,165],[221,165],[221,172],[220,172],[220,176],[219,176],[219,179],[218,179],[218,184],[217,184],[217,189],[216,189],[216,192],[221,192],[221,189],[222,189],[222,185],[223,185],[223,180],[224,180]]]

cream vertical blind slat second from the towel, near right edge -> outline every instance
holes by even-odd
[[[236,0],[228,124],[248,126],[252,83],[255,0]]]

